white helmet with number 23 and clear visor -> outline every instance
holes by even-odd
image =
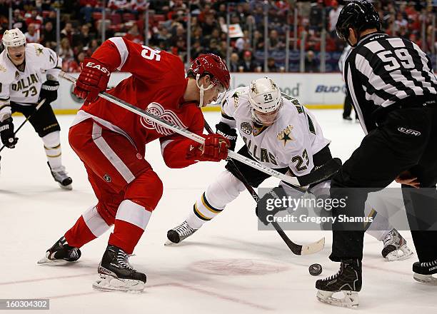
[[[252,118],[261,124],[271,124],[276,120],[276,113],[282,106],[281,91],[269,77],[251,81],[248,90]]]

